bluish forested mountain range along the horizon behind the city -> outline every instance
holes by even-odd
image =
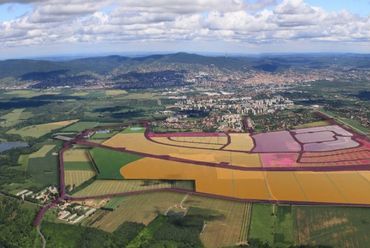
[[[370,68],[370,55],[211,57],[175,53],[145,57],[91,57],[63,61],[13,59],[0,61],[0,80],[2,79],[2,85],[19,81],[34,82],[36,88],[66,84],[76,86],[97,80],[111,80],[112,83],[125,83],[134,88],[141,88],[148,86],[145,81],[153,81],[153,79],[160,82],[160,80],[170,78],[167,81],[172,83],[165,83],[164,86],[181,84],[184,73],[202,70],[276,73],[287,69],[302,71],[333,68],[368,69]],[[139,80],[143,80],[141,86],[137,85],[137,83],[140,84]],[[148,87],[156,86],[156,82]]]

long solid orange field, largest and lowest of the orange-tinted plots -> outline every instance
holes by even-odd
[[[121,174],[128,179],[195,180],[197,192],[239,199],[370,204],[366,172],[238,171],[143,158],[122,167]]]

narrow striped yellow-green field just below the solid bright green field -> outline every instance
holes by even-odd
[[[143,180],[96,180],[73,196],[96,196],[170,187],[171,184],[167,182],[145,183]]]

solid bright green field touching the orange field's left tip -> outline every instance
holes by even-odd
[[[93,148],[90,150],[90,154],[98,169],[99,179],[122,179],[120,168],[141,158],[135,154],[104,148]]]

